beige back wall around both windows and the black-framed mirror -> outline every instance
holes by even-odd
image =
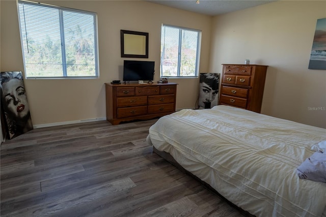
[[[105,118],[104,83],[121,79],[120,30],[149,33],[149,58],[155,61],[159,80],[160,27],[162,23],[202,30],[200,72],[208,70],[212,17],[142,1],[45,1],[97,12],[99,79],[27,79],[26,92],[33,124],[46,126],[78,120]],[[1,1],[1,71],[23,71],[17,6]],[[131,59],[129,59],[131,60]],[[198,96],[198,78],[170,79],[178,83],[177,109],[193,108]]]

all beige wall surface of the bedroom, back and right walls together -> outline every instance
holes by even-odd
[[[223,63],[269,65],[262,113],[326,128],[326,71],[309,70],[316,19],[324,1],[279,1],[216,17],[141,1],[46,1],[98,14],[99,79],[25,80],[34,125],[105,118],[104,83],[122,79],[120,30],[149,33],[149,58],[159,79],[160,25],[202,30],[200,72],[221,73]],[[0,1],[1,71],[21,70],[15,1]],[[141,60],[141,59],[139,59]],[[178,83],[177,109],[193,108],[198,79]]]

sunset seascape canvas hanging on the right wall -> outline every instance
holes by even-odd
[[[308,69],[326,69],[326,18],[317,19]]]

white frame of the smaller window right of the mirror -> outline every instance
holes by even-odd
[[[162,36],[162,29],[164,26],[170,27],[170,28],[175,28],[179,30],[179,41],[178,41],[178,66],[177,66],[177,74],[178,76],[166,76],[162,74],[162,62],[163,62],[163,57],[162,57],[162,43],[160,46],[161,53],[160,53],[160,78],[198,78],[199,77],[199,65],[200,65],[200,51],[201,51],[201,39],[202,39],[202,31],[197,30],[197,29],[191,29],[191,28],[185,28],[182,26],[177,26],[177,25],[170,25],[170,24],[165,24],[162,23],[161,25],[161,36]],[[180,76],[180,65],[181,65],[181,50],[182,50],[182,31],[192,31],[192,32],[197,32],[198,34],[198,39],[197,39],[197,50],[196,50],[196,66],[195,66],[195,75],[193,76]],[[161,39],[162,40],[162,39]]]

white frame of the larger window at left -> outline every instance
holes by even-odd
[[[58,17],[60,19],[60,35],[61,35],[61,53],[62,53],[62,75],[63,76],[28,76],[26,73],[26,64],[25,64],[25,51],[24,51],[24,44],[23,44],[23,34],[22,32],[24,31],[24,23],[21,23],[21,16],[24,16],[20,14],[19,11],[19,5],[20,4],[26,4],[26,5],[34,5],[34,6],[41,6],[45,8],[52,8],[52,9],[57,9],[58,10]],[[77,12],[80,14],[90,14],[93,16],[93,31],[94,31],[94,72],[93,75],[90,76],[85,76],[85,75],[76,75],[76,76],[68,76],[67,75],[67,62],[66,62],[66,49],[65,49],[65,43],[63,43],[63,34],[65,34],[65,30],[62,28],[62,22],[63,22],[63,12],[68,11],[68,12]],[[19,32],[20,32],[20,42],[21,42],[21,49],[22,49],[22,58],[23,58],[23,64],[24,64],[24,77],[26,79],[94,79],[94,78],[99,78],[99,55],[98,55],[98,20],[97,20],[97,13],[96,12],[91,12],[91,11],[85,11],[85,10],[80,10],[80,9],[72,9],[72,8],[66,8],[66,7],[61,7],[61,6],[55,6],[55,5],[48,5],[44,3],[36,3],[36,2],[30,2],[30,1],[23,1],[23,0],[17,0],[17,12],[18,12],[18,22],[19,22]],[[23,20],[25,19],[24,17],[22,18]],[[40,30],[38,30],[40,31]],[[47,72],[46,72],[47,73]],[[46,73],[43,73],[46,75]]]

